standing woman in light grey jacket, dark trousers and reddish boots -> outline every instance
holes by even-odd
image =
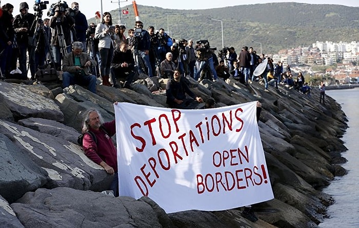
[[[102,22],[97,24],[95,38],[99,39],[98,51],[101,56],[100,72],[102,77],[102,85],[111,86],[109,82],[110,67],[115,48],[116,34],[112,26],[112,16],[109,12],[102,15]]]

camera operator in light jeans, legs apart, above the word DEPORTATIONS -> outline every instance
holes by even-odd
[[[205,69],[206,66],[209,66],[209,69],[213,75],[213,81],[218,81],[218,76],[213,64],[213,51],[210,48],[208,40],[197,41],[196,55],[198,60],[201,61],[201,65],[200,69],[196,72],[194,79],[202,80],[203,77],[200,78],[201,72]]]

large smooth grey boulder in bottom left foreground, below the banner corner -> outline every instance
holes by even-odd
[[[145,201],[71,188],[37,189],[11,208],[25,227],[164,227]]]

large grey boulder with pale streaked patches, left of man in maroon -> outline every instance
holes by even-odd
[[[48,122],[42,122],[42,119],[37,119],[34,125],[46,125]],[[45,129],[45,128],[42,128]],[[1,185],[0,188],[5,188],[7,194],[2,195],[10,202],[21,197],[27,191],[33,191],[39,187],[55,188],[55,187],[71,187],[80,190],[103,191],[110,189],[112,181],[111,175],[99,165],[93,163],[82,151],[79,145],[69,142],[65,139],[42,133],[31,128],[26,128],[15,123],[5,122],[0,120],[0,133],[4,133],[8,138],[15,142],[15,145],[22,148],[23,153],[27,156],[20,156],[21,164],[27,167],[27,164],[34,164],[32,167],[37,173],[43,176],[49,176],[46,181],[40,179],[32,171],[28,177],[35,182],[35,184],[27,184],[29,187],[19,187],[11,185]],[[75,134],[75,132],[73,133]],[[10,150],[12,151],[12,150]],[[25,152],[26,151],[26,152]],[[24,158],[23,158],[24,157]],[[27,158],[26,158],[27,157]],[[20,159],[17,158],[17,159]],[[4,162],[7,159],[3,159]],[[20,166],[17,164],[16,166]],[[36,165],[35,165],[36,164]],[[4,164],[6,165],[6,164]],[[21,167],[21,166],[20,166]],[[38,167],[42,167],[39,169]],[[16,170],[16,169],[15,169]],[[18,181],[21,184],[22,180],[26,180],[26,175],[18,174]],[[46,184],[46,185],[45,185]],[[11,191],[9,191],[11,189]],[[14,192],[19,192],[14,194]],[[11,198],[10,198],[11,197]]]

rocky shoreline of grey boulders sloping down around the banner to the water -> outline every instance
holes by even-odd
[[[259,100],[261,139],[275,199],[253,205],[256,222],[243,208],[166,214],[150,198],[135,200],[101,193],[111,178],[77,145],[82,113],[95,108],[114,118],[113,102],[167,107],[167,79],[139,76],[133,89],[0,82],[0,224],[4,227],[318,227],[333,198],[321,191],[340,164],[347,128],[340,104],[319,92],[311,96],[280,86],[235,80],[201,83],[191,90],[217,106]],[[153,93],[152,93],[153,92]]]

